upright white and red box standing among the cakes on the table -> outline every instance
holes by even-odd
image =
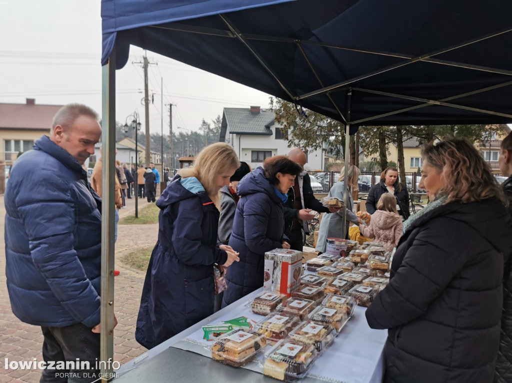
[[[265,253],[263,289],[286,294],[288,297],[297,288],[302,273],[300,251],[274,249]]]

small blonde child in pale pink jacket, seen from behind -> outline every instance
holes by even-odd
[[[368,238],[375,238],[375,242],[382,243],[386,250],[393,251],[402,236],[402,218],[396,210],[396,199],[391,193],[384,193],[377,202],[377,209],[372,214],[370,225],[359,225],[361,234]]]

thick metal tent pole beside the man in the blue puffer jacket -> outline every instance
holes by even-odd
[[[100,361],[102,376],[112,373],[114,357],[114,209],[116,158],[115,48],[102,67],[102,204],[101,204],[101,333]],[[109,363],[110,362],[110,363]],[[102,378],[102,381],[108,379]]]

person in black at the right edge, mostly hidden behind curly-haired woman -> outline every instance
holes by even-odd
[[[505,177],[503,190],[512,205],[512,133],[501,142],[498,158],[501,174]],[[509,206],[512,212],[512,206]],[[512,254],[506,254],[503,267],[503,311],[501,313],[501,336],[495,382],[512,381]]]

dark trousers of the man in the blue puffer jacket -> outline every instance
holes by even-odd
[[[55,362],[54,368],[57,362],[66,364],[66,361],[74,361],[76,364],[70,370],[42,370],[39,383],[90,383],[99,378],[99,334],[82,323],[65,327],[41,327],[41,330],[45,337],[42,357],[47,367],[49,362]],[[72,376],[61,377],[62,373],[72,373]]]

